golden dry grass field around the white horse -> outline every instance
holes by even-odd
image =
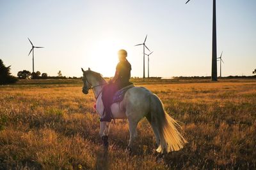
[[[0,87],[0,169],[256,169],[256,80],[136,82],[156,93],[188,144],[158,157],[146,119],[130,155],[126,120],[99,138],[92,92],[81,80]]]

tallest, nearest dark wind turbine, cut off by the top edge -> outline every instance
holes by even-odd
[[[186,4],[189,2],[188,0]],[[218,81],[217,78],[217,39],[216,39],[216,0],[213,0],[212,6],[212,81]]]

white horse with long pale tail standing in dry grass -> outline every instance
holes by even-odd
[[[102,88],[106,80],[99,73],[83,71],[83,93],[93,89],[96,99],[96,110],[100,118],[103,116],[104,106],[102,103]],[[113,118],[128,119],[130,139],[128,148],[131,150],[134,139],[137,136],[137,125],[143,117],[150,123],[157,141],[157,152],[168,153],[183,148],[186,140],[182,137],[176,127],[177,122],[170,117],[163,108],[163,104],[156,94],[143,87],[132,87],[127,90],[123,101],[111,105]],[[109,122],[100,122],[100,138],[108,145]]]

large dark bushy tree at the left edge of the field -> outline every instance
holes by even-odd
[[[4,66],[3,60],[0,59],[0,85],[15,83],[18,79],[10,73],[11,66]]]

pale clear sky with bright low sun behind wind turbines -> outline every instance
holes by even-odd
[[[131,76],[143,76],[143,43],[151,51],[150,76],[211,76],[212,0],[15,1],[0,0],[0,59],[17,76],[35,71],[82,76],[81,67],[113,76],[125,49]],[[256,1],[221,0],[217,50],[222,75],[252,75],[256,68]],[[148,51],[146,50],[146,53]],[[147,66],[147,58],[145,59]],[[147,67],[145,67],[147,76]],[[218,75],[220,62],[218,62]]]

